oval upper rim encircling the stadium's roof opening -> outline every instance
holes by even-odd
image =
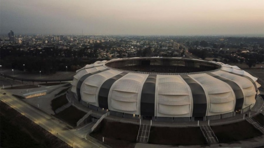
[[[190,72],[190,73],[154,73],[154,72],[143,72],[143,71],[132,71],[132,70],[122,70],[119,68],[113,68],[110,66],[107,66],[107,63],[111,63],[111,62],[116,62],[116,61],[126,61],[126,60],[131,60],[131,59],[153,59],[153,58],[157,58],[157,59],[183,59],[186,61],[199,61],[199,62],[203,62],[203,63],[210,63],[212,65],[215,66],[219,66],[219,68],[214,69],[214,70],[208,70],[208,71],[201,71],[201,72]],[[152,75],[191,75],[191,74],[200,74],[200,73],[211,73],[211,72],[215,72],[218,70],[221,70],[223,68],[223,66],[215,61],[204,61],[201,59],[193,59],[193,58],[179,58],[179,57],[133,57],[133,58],[115,58],[115,59],[111,59],[109,61],[106,61],[103,63],[103,66],[108,68],[108,69],[112,69],[112,70],[117,70],[117,71],[122,71],[122,72],[128,72],[128,73],[141,73],[141,74],[152,74]]]

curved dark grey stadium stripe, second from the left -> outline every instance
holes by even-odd
[[[116,82],[116,80],[120,79],[126,74],[127,73],[123,72],[123,73],[120,73],[119,75],[116,75],[104,81],[98,93],[98,104],[100,108],[109,109],[108,108],[108,94],[109,94],[110,88],[112,87],[114,82]]]

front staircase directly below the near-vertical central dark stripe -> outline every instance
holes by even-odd
[[[148,143],[148,137],[150,132],[150,125],[141,125],[138,131],[137,142]]]

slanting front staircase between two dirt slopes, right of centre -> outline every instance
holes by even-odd
[[[207,141],[208,144],[218,143],[218,139],[217,139],[216,135],[214,135],[214,131],[211,129],[210,126],[201,125],[199,127],[202,130],[202,133],[203,133],[205,140]]]

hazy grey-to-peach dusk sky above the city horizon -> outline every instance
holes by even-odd
[[[0,0],[0,33],[263,35],[264,0]]]

